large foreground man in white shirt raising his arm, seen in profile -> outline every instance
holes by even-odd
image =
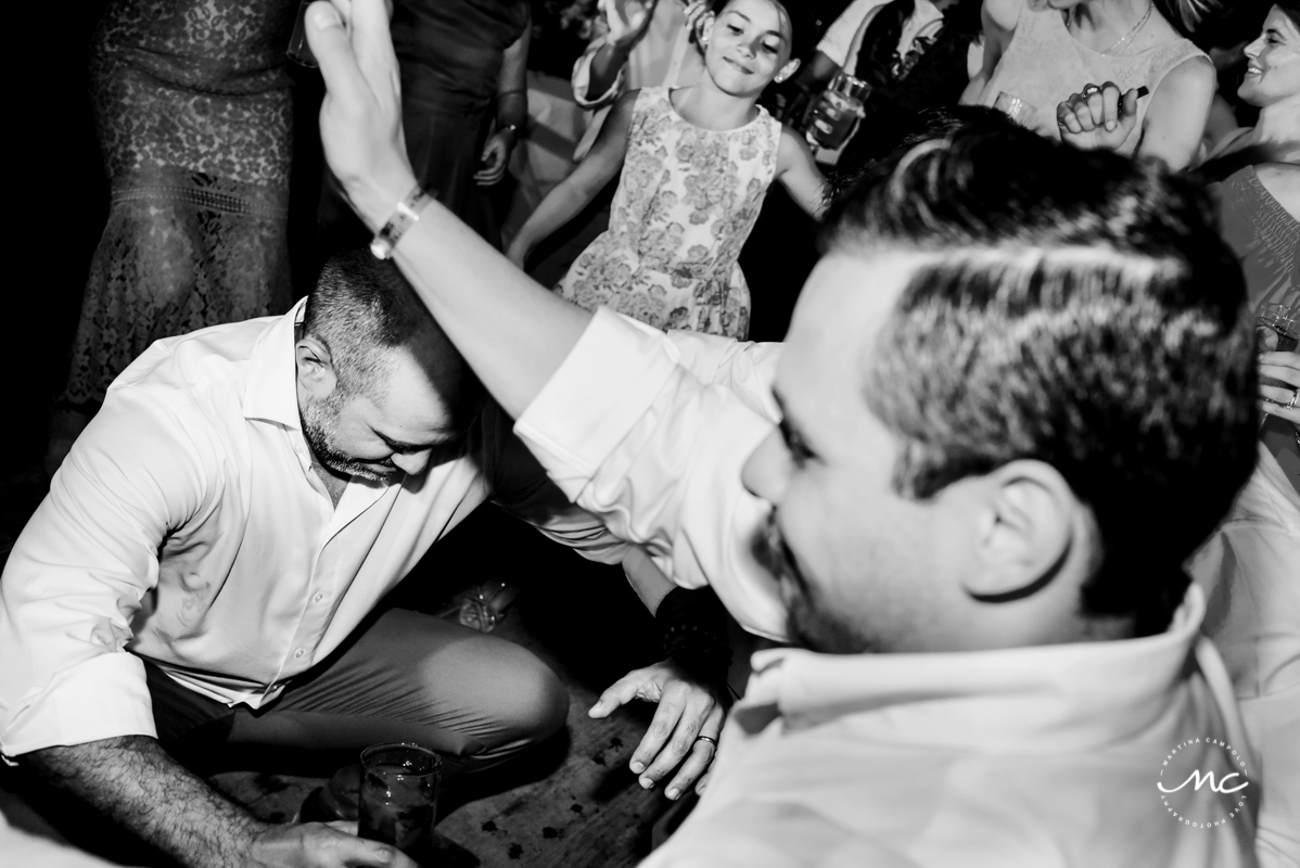
[[[382,8],[347,14],[308,16],[322,142],[377,229],[413,175]],[[832,217],[776,428],[734,391],[771,350],[566,307],[422,209],[396,260],[551,478],[803,646],[755,656],[651,864],[1253,864],[1258,769],[1180,569],[1254,463],[1210,213],[1010,123],[922,142]]]

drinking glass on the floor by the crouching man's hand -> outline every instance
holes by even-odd
[[[441,778],[442,759],[426,747],[404,742],[367,747],[358,834],[419,859],[417,851],[430,845]]]

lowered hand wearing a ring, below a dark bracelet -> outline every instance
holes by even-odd
[[[702,790],[705,781],[701,774],[714,761],[718,734],[727,716],[719,696],[664,660],[619,678],[601,694],[601,700],[592,706],[588,715],[608,717],[619,706],[633,699],[659,703],[650,729],[629,763],[632,771],[641,776],[641,786],[649,790],[677,769],[666,790],[670,799],[679,798],[697,781]]]

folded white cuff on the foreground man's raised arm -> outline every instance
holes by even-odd
[[[577,500],[676,372],[662,331],[599,308],[515,433]]]

